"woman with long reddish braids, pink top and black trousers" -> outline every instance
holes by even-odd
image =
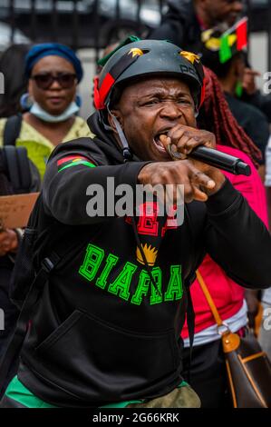
[[[216,75],[205,68],[206,97],[198,115],[202,129],[213,132],[217,149],[241,158],[251,167],[250,176],[224,172],[242,193],[256,214],[267,224],[265,189],[256,171],[261,153],[231,114]],[[207,255],[199,267],[222,320],[234,333],[246,333],[247,302],[245,290],[230,279],[223,269]],[[227,407],[227,373],[221,336],[217,323],[202,293],[198,280],[191,286],[191,296],[196,314],[195,338],[190,366],[190,384],[198,393],[201,407]],[[252,317],[252,316],[251,316]],[[189,332],[187,325],[182,331],[185,360],[189,369]],[[187,372],[188,374],[188,372]]]

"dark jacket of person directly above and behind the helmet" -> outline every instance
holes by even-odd
[[[170,40],[183,50],[201,51],[201,28],[190,0],[168,0],[169,10],[163,16],[161,25],[153,30],[149,38]]]

